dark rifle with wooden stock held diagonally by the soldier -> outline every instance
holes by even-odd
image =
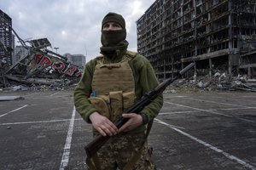
[[[184,73],[189,71],[195,64],[190,63],[188,66],[186,66],[182,71],[179,71],[177,74],[177,77],[169,78],[165,82],[161,82],[156,88],[149,91],[147,94],[143,95],[143,98],[137,101],[135,105],[132,105],[128,109],[124,111],[124,113],[138,113],[139,111],[143,110],[143,107],[145,105],[148,105],[153,99],[155,99],[159,94],[162,94],[162,92],[166,89],[167,86],[169,86],[172,82],[177,80],[179,77],[182,77]],[[128,121],[128,118],[120,117],[117,122],[114,122],[114,125],[116,127],[122,127],[125,122]],[[95,139],[93,139],[89,144],[87,144],[84,147],[84,150],[86,151],[86,155],[90,158],[96,154],[97,150],[99,150],[103,144],[105,144],[110,136],[102,136],[98,135]]]

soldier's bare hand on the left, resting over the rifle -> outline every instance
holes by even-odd
[[[90,116],[90,122],[102,136],[113,136],[118,133],[118,128],[109,121],[106,116],[100,115],[98,112],[93,112]]]

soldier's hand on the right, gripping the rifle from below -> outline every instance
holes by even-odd
[[[128,132],[132,129],[139,127],[143,124],[143,117],[136,113],[123,114],[124,118],[128,118],[129,120],[125,122],[125,124],[119,128],[119,133]]]

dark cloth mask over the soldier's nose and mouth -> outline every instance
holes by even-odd
[[[102,46],[103,47],[114,47],[123,42],[126,38],[126,30],[117,31],[102,31]]]

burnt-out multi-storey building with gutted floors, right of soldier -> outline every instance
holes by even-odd
[[[137,49],[160,80],[195,62],[196,74],[256,77],[255,0],[156,0],[137,20]]]

